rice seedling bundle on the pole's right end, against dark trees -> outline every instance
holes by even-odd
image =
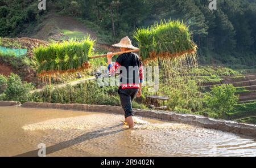
[[[195,54],[197,49],[182,21],[161,21],[150,28],[137,29],[134,37],[144,63]]]

